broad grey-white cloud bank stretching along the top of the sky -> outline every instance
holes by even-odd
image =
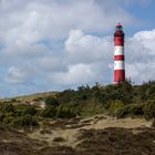
[[[113,29],[117,21],[126,25],[135,22],[117,2],[106,0],[102,4],[95,0],[4,0],[0,9],[1,37],[8,40],[13,35],[28,42],[62,38],[71,29],[105,32]]]

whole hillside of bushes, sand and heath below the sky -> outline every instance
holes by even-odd
[[[154,155],[154,81],[1,100],[0,153]]]

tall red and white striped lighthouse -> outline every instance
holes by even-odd
[[[114,45],[114,84],[117,84],[125,81],[124,32],[121,23],[115,28]]]

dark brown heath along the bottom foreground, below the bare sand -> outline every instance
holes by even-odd
[[[76,142],[75,148],[50,146],[0,126],[0,155],[155,155],[154,128],[80,130]]]

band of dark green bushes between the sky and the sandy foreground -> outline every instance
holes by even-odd
[[[35,102],[40,102],[34,99]],[[41,99],[45,107],[17,99],[0,104],[0,123],[16,126],[38,126],[42,118],[87,117],[108,113],[116,117],[144,116],[155,118],[155,82],[133,85],[125,81],[118,85],[80,86]]]

